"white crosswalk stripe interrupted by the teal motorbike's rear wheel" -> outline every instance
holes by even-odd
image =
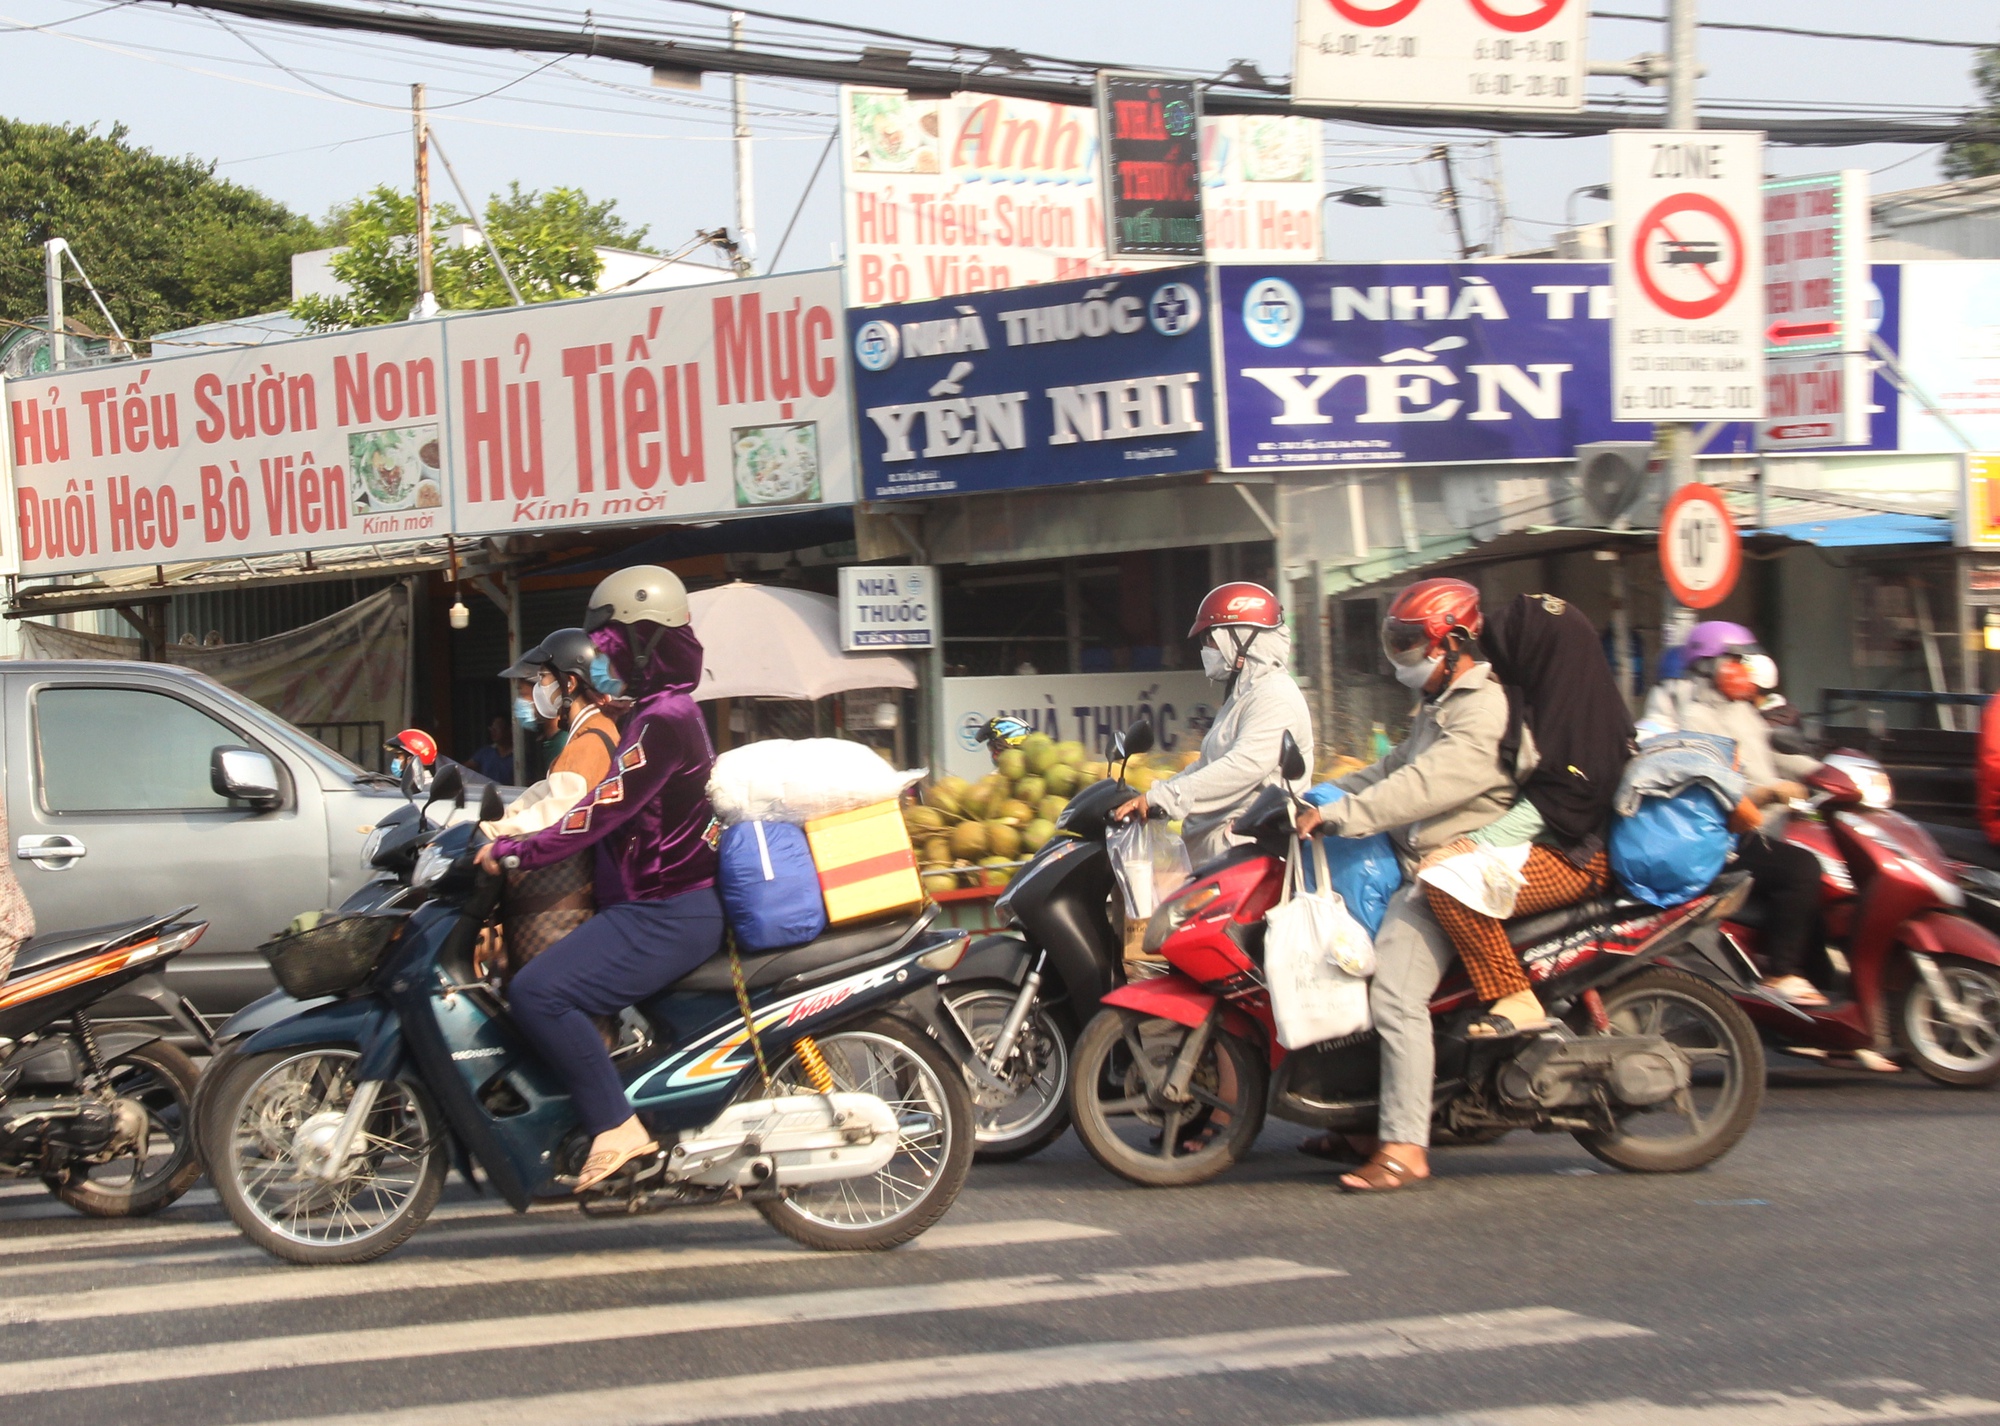
[[[1116,1238],[1108,1228],[1016,1218],[986,1224],[946,1224],[916,1240],[916,1248],[1006,1248],[1074,1238]],[[630,1272],[690,1272],[696,1268],[736,1268],[818,1258],[810,1248],[632,1248],[622,1252],[564,1252],[536,1258],[474,1258],[448,1262],[434,1256],[372,1262],[358,1268],[312,1268],[288,1272],[190,1278],[184,1282],[98,1288],[88,1292],[46,1292],[0,1298],[0,1322],[82,1322],[90,1318],[150,1316],[156,1312],[200,1312],[238,1308],[254,1302],[312,1302],[352,1298],[368,1292],[422,1292],[434,1288],[490,1288],[504,1282],[556,1282]]]

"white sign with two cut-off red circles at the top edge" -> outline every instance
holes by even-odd
[[[1292,96],[1578,112],[1588,18],[1588,0],[1298,0]]]

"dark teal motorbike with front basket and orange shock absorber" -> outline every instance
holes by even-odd
[[[490,800],[480,820],[498,816]],[[500,898],[478,836],[456,822],[430,840],[412,872],[422,906],[266,946],[286,992],[326,998],[246,1036],[222,1028],[202,1146],[250,1242],[366,1262],[422,1226],[448,1166],[520,1212],[750,1202],[826,1250],[892,1248],[950,1208],[972,1164],[966,1074],[984,1070],[940,1000],[964,932],[932,932],[926,912],[698,966],[638,1008],[646,1036],[614,1060],[662,1148],[572,1194],[590,1136],[474,972]]]

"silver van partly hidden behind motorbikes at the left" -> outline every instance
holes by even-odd
[[[174,664],[0,662],[14,874],[42,934],[200,906],[166,970],[204,1014],[272,988],[256,946],[366,880],[362,844],[402,804],[366,772]]]

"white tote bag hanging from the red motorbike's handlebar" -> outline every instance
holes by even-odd
[[[1312,890],[1304,886],[1308,854]],[[1372,974],[1374,940],[1332,890],[1326,848],[1318,838],[1294,840],[1284,894],[1264,918],[1264,982],[1278,1044],[1300,1050],[1366,1030]]]

